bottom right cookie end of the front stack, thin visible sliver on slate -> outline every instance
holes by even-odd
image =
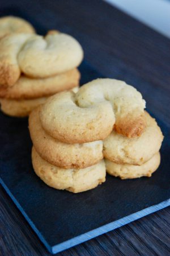
[[[105,159],[105,165],[108,174],[121,179],[135,179],[137,177],[147,176],[151,177],[152,173],[156,171],[160,164],[160,153],[156,153],[150,160],[143,163],[141,166],[133,164],[117,164],[108,159]]]

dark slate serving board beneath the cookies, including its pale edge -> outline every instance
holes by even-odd
[[[36,20],[29,19],[17,9],[0,10],[2,14],[26,18],[37,32],[45,34],[45,29],[38,26]],[[85,61],[79,69],[82,73],[80,84],[103,77]],[[48,187],[33,172],[28,119],[11,118],[0,113],[1,184],[51,253],[87,241],[170,204],[170,136],[168,127],[156,119],[165,138],[162,162],[150,179],[120,180],[107,175],[103,185],[73,194]]]

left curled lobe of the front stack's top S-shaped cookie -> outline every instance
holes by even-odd
[[[43,129],[65,143],[100,141],[113,130],[114,114],[109,102],[80,108],[75,93],[61,92],[49,98],[40,110]]]

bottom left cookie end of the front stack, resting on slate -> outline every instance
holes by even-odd
[[[83,169],[63,169],[46,162],[33,147],[32,164],[37,176],[47,185],[73,193],[87,191],[105,181],[104,160]]]

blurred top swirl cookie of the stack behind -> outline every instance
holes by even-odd
[[[21,73],[36,78],[64,73],[82,59],[82,47],[67,34],[7,35],[0,41],[0,84],[14,85]]]

